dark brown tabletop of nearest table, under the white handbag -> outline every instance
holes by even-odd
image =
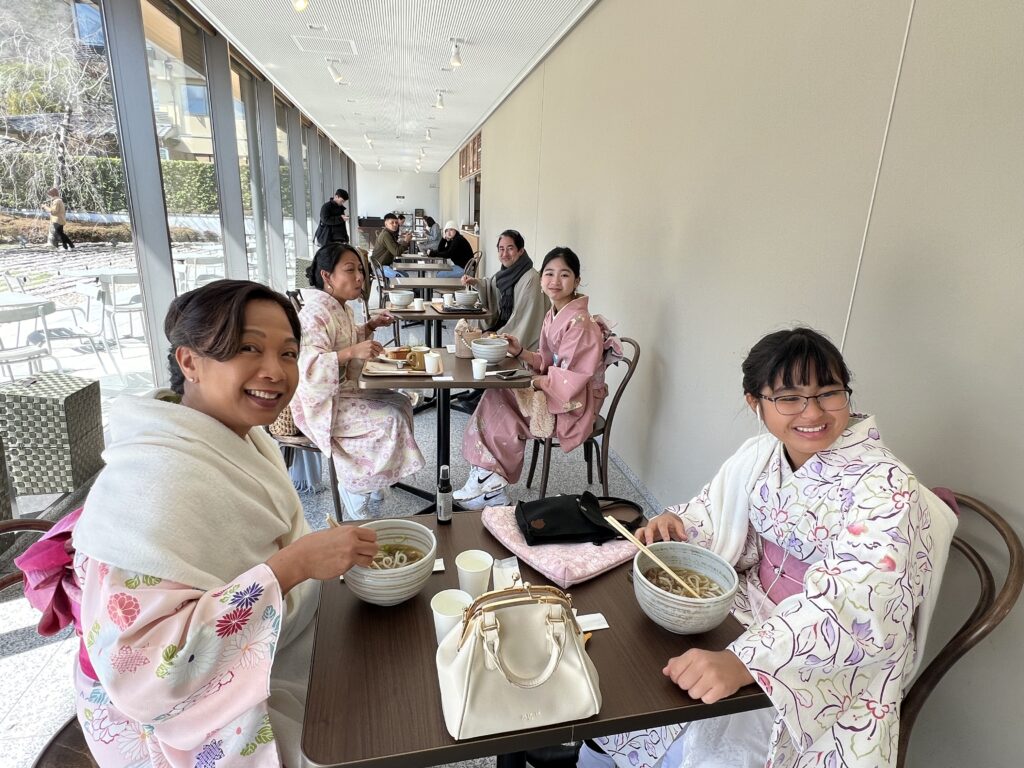
[[[444,570],[432,573],[418,595],[381,607],[358,600],[344,582],[322,586],[302,728],[304,765],[425,768],[770,706],[756,685],[706,705],[662,674],[672,656],[689,648],[721,650],[742,628],[729,616],[700,635],[662,629],[637,604],[628,562],[567,590],[581,615],[603,613],[609,626],[595,631],[587,644],[600,678],[600,713],[457,741],[441,714],[430,598],[458,587],[460,552],[482,549],[496,558],[510,553],[483,528],[479,512],[459,512],[450,525],[431,517],[417,521],[436,531],[437,557],[444,561]],[[547,583],[522,561],[520,573],[528,583]]]

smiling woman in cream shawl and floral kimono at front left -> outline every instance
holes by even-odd
[[[74,530],[78,717],[103,768],[300,764],[316,580],[377,551],[312,534],[263,427],[298,384],[299,322],[256,283],[171,304],[171,390],[121,397]]]

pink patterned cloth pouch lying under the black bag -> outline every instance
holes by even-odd
[[[483,527],[512,554],[562,589],[586,582],[633,559],[637,548],[626,541],[595,544],[539,544],[530,547],[519,530],[515,507],[487,507]]]

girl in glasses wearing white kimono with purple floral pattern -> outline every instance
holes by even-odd
[[[850,372],[815,331],[766,336],[743,362],[748,440],[688,504],[638,532],[688,540],[739,571],[726,650],[664,673],[711,703],[757,683],[773,709],[598,739],[614,761],[666,766],[893,766],[899,710],[921,662],[955,526],[951,511],[850,412]],[[677,735],[682,730],[682,735]],[[669,746],[671,744],[671,746]]]

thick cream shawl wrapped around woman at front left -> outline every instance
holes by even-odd
[[[273,439],[249,440],[176,402],[120,397],[75,548],[111,565],[211,590],[309,532]],[[292,597],[290,593],[289,598]]]

